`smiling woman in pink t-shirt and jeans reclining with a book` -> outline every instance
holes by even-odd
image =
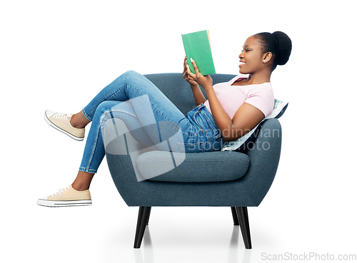
[[[239,55],[241,75],[214,87],[211,77],[202,76],[191,59],[195,71],[192,73],[185,58],[183,78],[191,85],[197,105],[186,116],[153,83],[134,71],[124,73],[106,86],[79,113],[65,115],[46,110],[46,122],[76,140],[83,140],[84,128],[92,124],[74,182],[54,195],[39,199],[37,204],[50,207],[91,205],[89,186],[105,155],[101,127],[109,118],[124,120],[129,130],[136,130],[137,134],[132,134],[134,138],[144,145],[156,144],[157,135],[145,129],[152,124],[148,120],[154,119],[156,123],[178,123],[183,143],[186,143],[181,150],[221,150],[216,145],[241,138],[271,113],[274,103],[271,73],[277,65],[288,61],[290,53],[291,39],[283,32],[250,36]],[[198,85],[208,98],[203,96]],[[151,108],[145,108],[148,103]],[[178,150],[177,145],[173,151]]]

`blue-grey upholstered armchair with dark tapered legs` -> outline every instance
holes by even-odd
[[[211,77],[215,84],[234,76],[214,74]],[[191,88],[181,73],[150,74],[146,78],[183,113],[196,107]],[[186,153],[180,165],[155,177],[150,174],[155,167],[160,167],[167,153],[153,151],[139,155],[134,167],[129,154],[112,150],[126,146],[113,140],[106,145],[106,160],[121,197],[127,205],[139,207],[134,248],[141,246],[151,207],[217,206],[231,207],[233,224],[240,225],[245,247],[251,249],[247,207],[261,203],[276,175],[281,153],[281,125],[277,119],[261,124],[256,140],[244,153]],[[152,169],[140,169],[143,163]],[[201,175],[196,173],[200,169],[204,171]],[[137,180],[138,170],[147,180]]]

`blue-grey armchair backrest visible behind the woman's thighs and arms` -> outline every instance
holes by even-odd
[[[183,114],[196,108],[196,103],[188,82],[183,78],[182,73],[158,73],[144,75],[156,87],[162,91],[169,100],[174,103]],[[235,75],[213,74],[211,78],[213,85],[216,83],[230,81]],[[201,88],[203,91],[203,89]],[[204,91],[203,91],[204,94]]]

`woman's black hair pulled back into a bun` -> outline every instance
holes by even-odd
[[[281,31],[274,33],[257,33],[257,41],[261,45],[263,53],[271,52],[273,54],[273,68],[278,65],[284,65],[288,62],[291,53],[291,39]]]

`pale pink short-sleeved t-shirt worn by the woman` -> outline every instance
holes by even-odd
[[[270,82],[246,86],[232,86],[235,81],[248,78],[248,74],[241,74],[231,81],[217,83],[213,86],[214,93],[228,116],[233,119],[234,114],[243,103],[249,103],[268,116],[274,107],[274,93]],[[204,103],[210,113],[208,100]]]

